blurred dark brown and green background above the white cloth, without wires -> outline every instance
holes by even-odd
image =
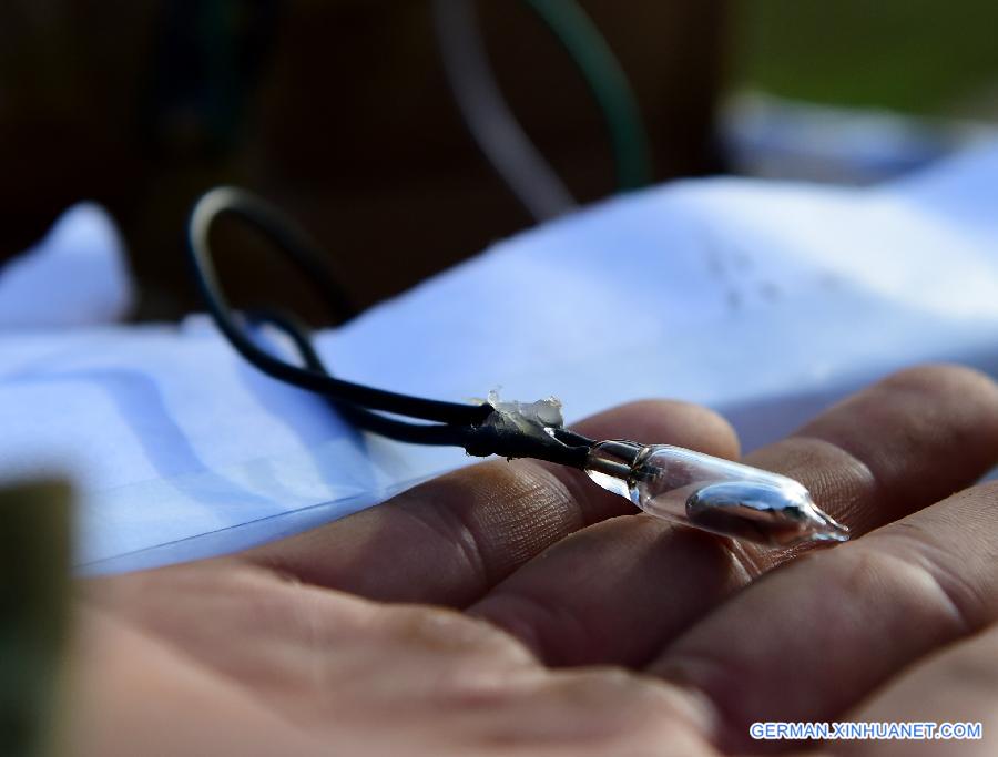
[[[599,112],[549,31],[482,0],[503,92],[582,201],[614,188]],[[724,170],[721,94],[994,117],[994,0],[584,0],[631,79],[655,180]],[[422,0],[6,0],[0,4],[0,259],[92,198],[121,225],[136,317],[197,307],[183,226],[197,194],[247,186],[309,228],[360,306],[531,218],[481,157]],[[223,229],[236,304],[302,283]]]

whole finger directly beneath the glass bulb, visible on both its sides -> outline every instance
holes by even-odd
[[[748,459],[801,480],[862,533],[987,470],[998,446],[998,389],[964,369],[907,371],[804,433]],[[613,519],[559,542],[471,611],[552,665],[640,665],[748,583],[743,560],[784,556],[730,545],[652,518]]]

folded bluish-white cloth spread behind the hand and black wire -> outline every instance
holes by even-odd
[[[900,366],[998,375],[996,186],[998,145],[877,188],[673,183],[502,242],[320,348],[352,380],[556,395],[569,418],[704,402],[751,448]],[[0,355],[0,474],[75,472],[89,571],[243,548],[469,461],[354,433],[204,317],[8,331]]]

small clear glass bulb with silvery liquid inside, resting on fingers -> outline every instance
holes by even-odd
[[[724,536],[771,546],[849,538],[797,481],[682,447],[602,441],[585,472],[646,513]]]

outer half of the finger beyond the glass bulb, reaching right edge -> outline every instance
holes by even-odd
[[[958,491],[998,449],[998,386],[960,366],[895,374],[748,461],[797,478],[862,535]]]

